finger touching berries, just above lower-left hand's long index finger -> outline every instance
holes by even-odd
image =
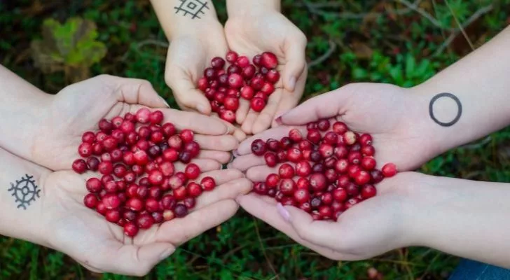
[[[221,200],[234,200],[235,197],[246,195],[251,191],[253,183],[245,178],[235,179],[218,186],[212,192],[205,192],[197,200],[197,206],[193,211],[202,209]]]

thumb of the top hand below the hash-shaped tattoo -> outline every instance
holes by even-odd
[[[205,95],[197,89],[191,77],[182,71],[167,71],[165,81],[174,92],[182,109],[191,109],[205,115],[211,114],[211,105]]]

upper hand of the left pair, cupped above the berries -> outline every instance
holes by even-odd
[[[219,118],[167,109],[165,101],[146,80],[97,76],[69,85],[53,97],[31,147],[33,162],[53,170],[69,169],[78,158],[78,146],[85,131],[97,132],[102,118],[136,113],[142,107],[163,112],[165,123],[178,130],[195,132],[201,153],[195,162],[221,168],[230,160],[238,141],[230,135],[233,127]]]

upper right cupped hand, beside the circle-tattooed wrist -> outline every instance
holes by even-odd
[[[305,125],[320,119],[339,120],[351,130],[373,137],[378,167],[393,162],[400,171],[420,167],[436,155],[434,136],[427,135],[427,105],[411,91],[395,85],[355,83],[313,97],[285,113],[280,127],[266,130],[242,141],[230,167],[247,172],[249,179],[261,181],[275,168],[266,167],[263,157],[251,153],[255,139],[277,139],[288,136],[296,127],[306,135]]]

